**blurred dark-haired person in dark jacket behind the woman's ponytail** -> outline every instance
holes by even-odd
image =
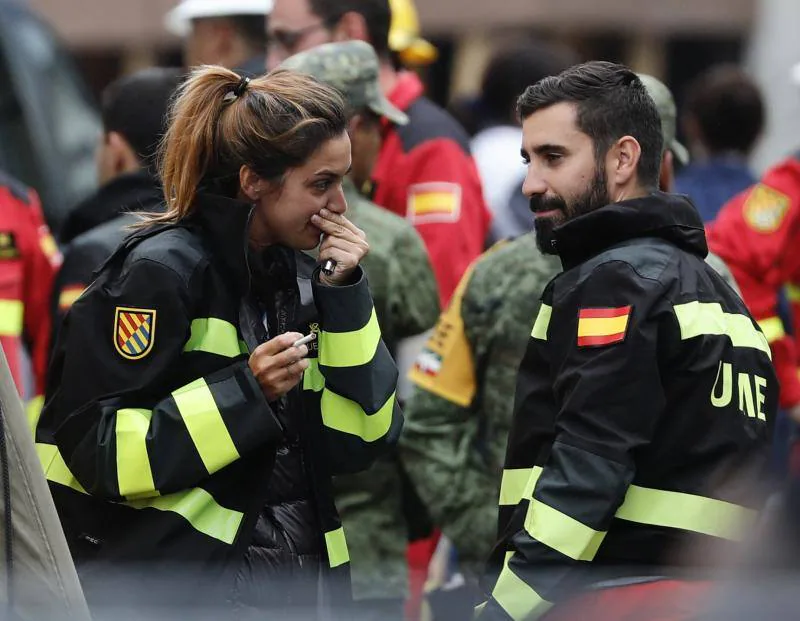
[[[103,92],[103,135],[97,145],[100,188],[64,227],[64,263],[53,291],[55,331],[92,273],[130,234],[136,212],[163,209],[156,153],[182,70],[150,68],[112,82]],[[55,339],[54,339],[55,340]]]

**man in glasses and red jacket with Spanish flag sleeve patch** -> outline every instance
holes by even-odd
[[[389,0],[277,0],[267,64],[275,67],[292,53],[330,41],[358,39],[375,48],[383,92],[409,122],[386,124],[367,194],[419,231],[444,305],[483,251],[490,215],[466,132],[425,97],[415,73],[399,66],[403,50],[391,48],[390,42],[414,42],[414,33],[393,37],[390,30],[399,11],[412,10],[411,0],[392,0],[391,8]]]

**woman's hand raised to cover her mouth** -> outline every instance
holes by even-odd
[[[327,209],[311,216],[311,222],[325,234],[319,246],[320,263],[324,264],[328,259],[336,261],[333,274],[320,273],[320,281],[326,285],[347,283],[361,259],[369,252],[367,236],[343,215]]]

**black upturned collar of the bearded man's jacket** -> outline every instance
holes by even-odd
[[[694,205],[685,196],[653,192],[611,203],[553,230],[555,250],[565,270],[622,242],[657,237],[705,258],[705,230]]]

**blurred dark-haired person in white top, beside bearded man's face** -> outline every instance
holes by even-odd
[[[529,85],[577,62],[569,48],[525,39],[500,49],[483,72],[476,104],[483,129],[472,138],[470,147],[492,212],[492,243],[533,228],[533,214],[522,194],[525,168],[519,157],[522,128],[517,98]]]

